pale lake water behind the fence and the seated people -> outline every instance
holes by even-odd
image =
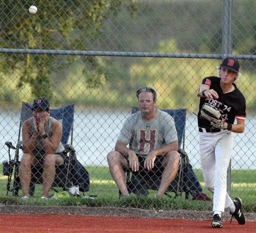
[[[74,142],[77,158],[82,164],[107,166],[106,156],[113,150],[128,111],[117,110],[76,110],[74,123]],[[0,113],[0,162],[8,159],[6,141],[17,143],[19,112]],[[232,169],[256,169],[256,117],[247,117],[246,130],[235,134],[232,153]],[[185,151],[191,164],[200,168],[199,136],[197,119],[187,114]],[[14,151],[13,151],[14,152]],[[12,153],[14,156],[14,153]]]

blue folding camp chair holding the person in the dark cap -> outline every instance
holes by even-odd
[[[64,153],[66,154],[66,159],[62,164],[56,164],[56,172],[55,179],[52,185],[52,189],[57,192],[54,187],[62,187],[63,190],[68,190],[72,185],[78,185],[77,179],[77,165],[81,165],[76,160],[76,151],[72,146],[73,143],[73,122],[74,122],[74,104],[69,104],[66,106],[62,106],[59,109],[51,109],[50,116],[59,120],[62,123],[62,139],[61,142],[65,148]],[[8,176],[7,179],[7,195],[8,192],[12,192],[13,196],[18,196],[19,190],[21,189],[21,183],[19,178],[19,151],[22,150],[22,141],[21,139],[21,128],[22,124],[32,117],[32,105],[30,103],[22,102],[21,107],[21,117],[20,117],[20,127],[18,133],[18,142],[16,147],[13,146],[12,142],[6,142],[5,144],[8,147],[8,155],[9,161],[3,162],[3,174]],[[69,136],[71,134],[70,144],[68,144]],[[14,159],[11,159],[10,149],[15,150]],[[69,156],[68,156],[69,155]],[[85,169],[84,169],[85,170]],[[42,165],[36,164],[32,166],[31,169],[32,177],[30,181],[30,191],[29,194],[31,196],[34,195],[35,192],[35,184],[42,184]],[[89,190],[89,174],[86,178],[86,188],[80,188],[79,190],[82,192],[86,192]],[[11,184],[12,177],[14,177],[13,185]],[[83,184],[85,185],[85,184]],[[12,187],[11,187],[12,186]],[[88,187],[87,187],[88,186]]]

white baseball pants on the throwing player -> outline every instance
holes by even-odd
[[[201,167],[205,185],[214,193],[213,211],[224,212],[233,201],[227,193],[227,170],[233,150],[234,134],[228,130],[199,132]]]

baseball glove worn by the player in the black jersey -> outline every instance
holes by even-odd
[[[201,108],[201,117],[208,120],[213,128],[223,129],[224,120],[219,109],[209,103],[204,103]]]

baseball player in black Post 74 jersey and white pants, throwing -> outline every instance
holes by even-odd
[[[239,224],[245,224],[241,199],[236,197],[232,200],[226,192],[234,133],[244,131],[246,116],[245,98],[234,83],[239,79],[239,67],[235,57],[226,57],[219,67],[220,77],[204,78],[198,94],[201,97],[198,113],[201,166],[205,185],[214,193],[213,227],[223,226],[221,212],[224,212],[224,208],[230,210],[231,220],[235,217]],[[222,119],[214,127],[210,121],[201,117],[204,103],[213,105],[221,112]]]

